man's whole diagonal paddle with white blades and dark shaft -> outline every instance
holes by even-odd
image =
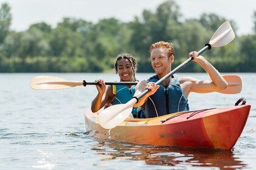
[[[205,47],[197,52],[198,55],[205,52],[206,50],[210,50],[212,47],[222,47],[229,44],[235,38],[235,33],[232,30],[231,25],[228,21],[224,22],[218,30],[213,34],[210,41],[205,44]],[[194,58],[188,58],[185,62],[177,66],[174,70],[169,72],[165,77],[158,80],[155,84],[162,83],[166,78],[171,77],[174,73],[185,67],[188,63],[190,63]],[[105,129],[112,129],[113,127],[117,126],[121,122],[123,122],[131,113],[133,104],[137,103],[137,101],[142,98],[144,95],[148,94],[150,90],[144,90],[140,95],[137,97],[133,97],[130,101],[126,104],[116,104],[107,109],[104,109],[98,115],[98,122],[99,124],[104,127]]]

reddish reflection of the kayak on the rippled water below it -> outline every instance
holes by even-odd
[[[173,148],[166,146],[146,146],[117,141],[95,139],[94,147],[101,160],[137,160],[147,165],[165,165],[180,168],[241,169],[247,165],[235,157],[233,151],[217,149]]]

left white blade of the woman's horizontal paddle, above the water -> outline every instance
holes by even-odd
[[[66,81],[63,78],[52,76],[39,76],[32,78],[30,87],[35,90],[57,90],[68,89],[70,87],[81,86],[80,81]]]

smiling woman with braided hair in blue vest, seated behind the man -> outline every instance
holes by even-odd
[[[120,81],[137,81],[135,72],[137,63],[132,55],[120,54],[116,58],[115,63],[116,74],[119,75]],[[125,104],[132,99],[135,94],[135,86],[113,85],[106,86],[104,80],[96,80],[99,85],[96,85],[98,95],[91,102],[91,111],[97,112],[103,106],[108,107],[115,104]],[[137,117],[139,107],[132,110],[133,117]]]

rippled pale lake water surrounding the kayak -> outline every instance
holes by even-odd
[[[227,74],[227,73],[226,73]],[[94,86],[32,90],[30,80],[52,75],[72,81],[118,80],[113,73],[0,73],[0,169],[254,169],[256,167],[256,73],[230,73],[243,81],[240,94],[191,94],[191,110],[252,104],[231,151],[143,146],[87,135],[84,112]],[[138,73],[143,80],[152,73]],[[206,79],[205,73],[179,73]],[[232,119],[232,117],[230,117]]]

